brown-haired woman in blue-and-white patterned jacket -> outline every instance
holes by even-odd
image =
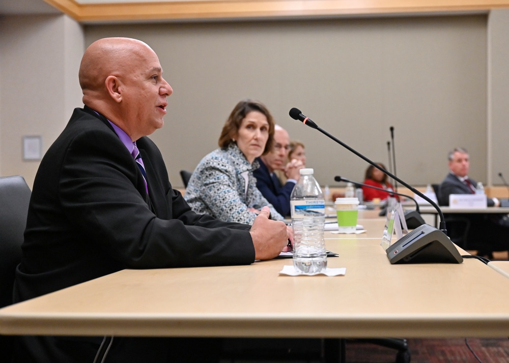
[[[240,101],[219,136],[219,148],[205,156],[189,179],[185,200],[192,210],[226,222],[251,224],[263,206],[284,218],[256,188],[256,158],[272,149],[274,120],[260,102]]]

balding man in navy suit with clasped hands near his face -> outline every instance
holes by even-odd
[[[300,178],[299,170],[304,167],[302,161],[297,159],[286,163],[289,148],[288,132],[276,125],[272,150],[257,159],[260,167],[253,172],[257,188],[282,216],[290,216],[290,194]],[[276,170],[284,171],[287,177],[284,185],[274,173]]]

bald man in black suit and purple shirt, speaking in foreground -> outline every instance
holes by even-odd
[[[48,149],[34,181],[14,301],[124,268],[250,264],[286,249],[290,229],[262,209],[252,226],[197,215],[172,189],[146,137],[172,87],[155,52],[127,38],[94,42],[79,69],[84,108]],[[204,341],[22,337],[16,362],[209,361]],[[210,345],[208,346],[210,348]],[[209,359],[210,358],[210,359]]]

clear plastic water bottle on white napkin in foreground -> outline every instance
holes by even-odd
[[[293,228],[293,265],[304,274],[327,268],[323,231],[325,201],[313,169],[300,169],[300,179],[290,196]]]

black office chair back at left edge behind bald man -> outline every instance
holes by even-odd
[[[0,177],[0,308],[12,304],[14,273],[21,261],[31,194],[22,176]],[[0,336],[0,360],[11,361],[12,340]]]

